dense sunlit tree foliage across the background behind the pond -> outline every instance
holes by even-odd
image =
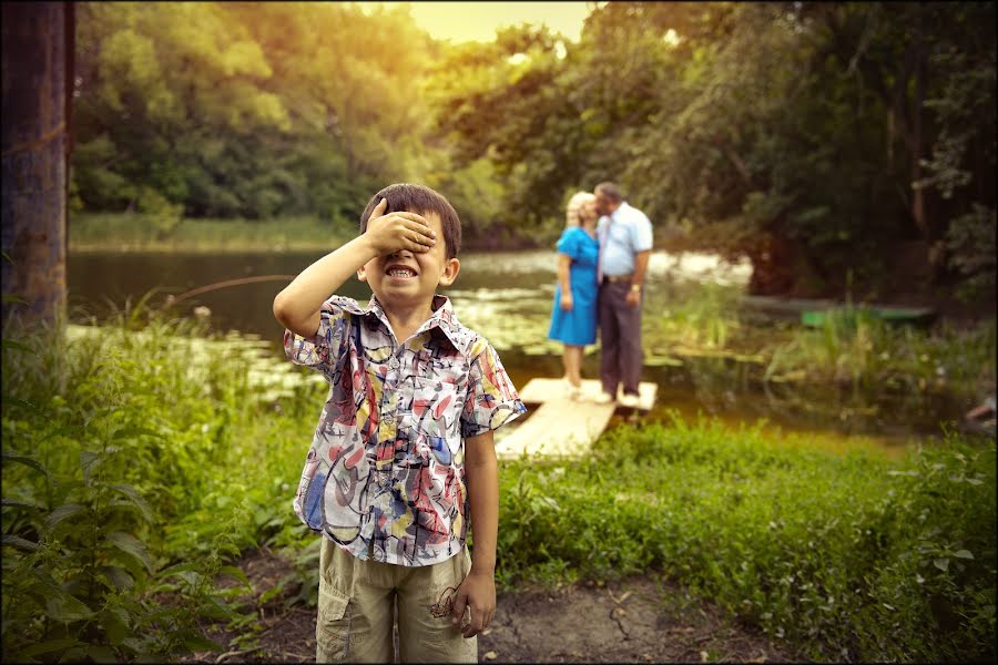
[[[748,255],[756,291],[994,287],[994,2],[609,2],[579,42],[456,45],[347,3],[78,22],[84,209],[353,226],[411,178],[509,243],[613,178],[663,237]]]

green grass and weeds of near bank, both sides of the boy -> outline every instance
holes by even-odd
[[[314,603],[291,500],[322,386],[141,306],[69,330],[4,332],[4,659],[175,657],[204,620],[247,644],[216,579],[262,544],[297,565],[268,594]],[[676,419],[500,484],[502,589],[655,571],[815,661],[994,656],[994,441],[892,460]]]

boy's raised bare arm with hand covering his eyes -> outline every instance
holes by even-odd
[[[401,249],[427,252],[436,244],[436,233],[415,213],[383,216],[388,200],[383,198],[370,214],[367,233],[322,257],[294,278],[274,298],[274,317],[305,338],[318,331],[323,303],[364,264],[381,254]]]

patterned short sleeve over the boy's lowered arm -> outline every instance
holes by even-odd
[[[527,411],[499,354],[483,339],[475,344],[468,372],[468,396],[461,412],[461,437],[477,437],[498,429]]]

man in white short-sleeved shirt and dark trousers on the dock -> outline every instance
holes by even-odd
[[[628,205],[614,183],[597,185],[595,204],[601,215],[597,237],[600,241],[600,381],[603,385],[595,402],[614,401],[617,389],[622,386],[620,405],[634,408],[644,361],[641,289],[652,248],[651,222],[644,213]]]

